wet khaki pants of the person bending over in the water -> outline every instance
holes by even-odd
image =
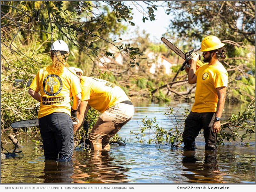
[[[125,103],[117,103],[104,111],[89,136],[92,150],[109,150],[109,139],[130,121],[133,115],[134,106]]]

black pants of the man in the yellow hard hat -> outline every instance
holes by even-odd
[[[195,139],[202,128],[204,128],[205,150],[217,149],[217,134],[213,132],[212,124],[215,113],[194,113],[190,112],[185,120],[183,132],[184,150],[195,150]]]

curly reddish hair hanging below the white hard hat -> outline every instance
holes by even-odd
[[[51,51],[50,56],[52,58],[51,72],[54,72],[56,75],[61,75],[63,73],[63,68],[69,67],[68,52],[62,51]]]

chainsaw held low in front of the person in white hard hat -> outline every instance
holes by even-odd
[[[39,105],[37,105],[35,108],[36,115],[38,115],[38,107]],[[71,119],[73,121],[73,125],[79,123],[78,118],[71,116]],[[22,121],[13,122],[11,124],[12,128],[36,127],[36,126],[39,126],[38,119],[22,120]]]

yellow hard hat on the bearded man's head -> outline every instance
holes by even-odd
[[[225,44],[220,42],[220,39],[216,36],[209,35],[204,37],[201,43],[200,51],[212,51],[223,47]]]

